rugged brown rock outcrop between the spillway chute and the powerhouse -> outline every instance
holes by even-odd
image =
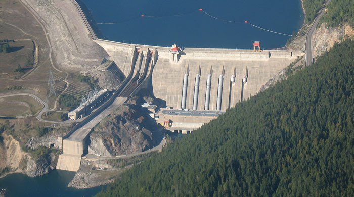
[[[146,118],[139,112],[140,106],[122,105],[101,121],[90,135],[90,154],[117,156],[142,152],[153,144]]]

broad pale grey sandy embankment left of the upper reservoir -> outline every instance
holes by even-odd
[[[105,50],[90,35],[71,0],[21,0],[45,27],[53,50],[54,65],[64,70],[93,69]]]

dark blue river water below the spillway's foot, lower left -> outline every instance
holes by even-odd
[[[62,170],[31,178],[24,174],[9,174],[0,179],[0,190],[6,188],[5,196],[93,196],[102,187],[91,189],[68,188],[75,173]]]

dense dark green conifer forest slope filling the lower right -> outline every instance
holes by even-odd
[[[124,173],[99,196],[354,196],[354,42]]]

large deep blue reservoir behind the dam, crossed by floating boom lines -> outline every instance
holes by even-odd
[[[280,48],[290,37],[263,29],[292,35],[303,24],[299,0],[80,1],[101,38],[134,44],[251,48],[260,41]]]

